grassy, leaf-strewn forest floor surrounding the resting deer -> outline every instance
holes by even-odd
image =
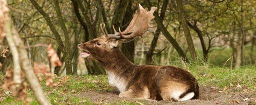
[[[41,84],[52,104],[256,104],[254,68],[243,67],[228,73],[222,73],[228,70],[222,67],[191,70],[199,81],[200,98],[179,102],[119,98],[119,92],[108,84],[106,75],[56,76],[57,87],[45,86],[45,81]],[[0,79],[3,82],[3,77]],[[0,91],[0,104],[22,104],[9,91]],[[30,104],[38,104],[30,88],[28,96],[32,99]]]

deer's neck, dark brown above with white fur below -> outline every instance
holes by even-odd
[[[118,48],[107,53],[100,62],[106,70],[108,83],[117,87],[120,92],[126,91],[136,65],[129,61]]]

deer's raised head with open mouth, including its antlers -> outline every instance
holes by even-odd
[[[129,26],[117,32],[113,26],[114,33],[109,34],[105,24],[100,24],[103,35],[94,38],[85,43],[78,44],[78,48],[82,49],[81,57],[88,57],[94,60],[102,60],[114,48],[117,48],[125,39],[142,36],[142,34],[150,27],[150,21],[155,17],[153,15],[156,7],[151,7],[150,11],[144,9],[141,4],[137,3],[137,11],[130,22]]]

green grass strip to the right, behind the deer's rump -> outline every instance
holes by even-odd
[[[198,79],[201,85],[215,85],[218,87],[241,84],[249,88],[256,85],[256,67],[242,66],[239,69],[227,67],[189,66],[191,73]]]

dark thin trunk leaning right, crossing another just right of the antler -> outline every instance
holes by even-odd
[[[164,0],[164,2],[163,2],[163,6],[162,6],[161,12],[160,12],[161,22],[163,22],[163,20],[164,20],[165,11],[166,11],[166,8],[167,8],[167,5],[168,5],[168,1],[169,0]],[[150,48],[146,53],[146,64],[152,63],[152,56],[153,56],[153,53],[154,53],[155,48],[157,46],[157,40],[158,40],[160,32],[161,31],[160,31],[159,27],[157,27],[157,30],[155,31],[154,37],[153,37],[153,39],[151,41],[151,44],[150,44]]]

